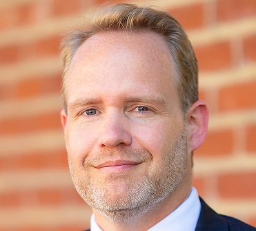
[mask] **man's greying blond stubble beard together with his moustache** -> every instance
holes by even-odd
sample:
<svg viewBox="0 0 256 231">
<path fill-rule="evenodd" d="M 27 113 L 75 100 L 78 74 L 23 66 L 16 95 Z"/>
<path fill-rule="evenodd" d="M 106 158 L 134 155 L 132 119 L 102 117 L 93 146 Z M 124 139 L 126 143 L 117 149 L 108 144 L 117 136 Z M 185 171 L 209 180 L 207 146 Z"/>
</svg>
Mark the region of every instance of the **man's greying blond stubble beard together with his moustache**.
<svg viewBox="0 0 256 231">
<path fill-rule="evenodd" d="M 168 197 L 181 183 L 188 169 L 186 126 L 175 144 L 161 154 L 161 166 L 149 168 L 144 175 L 139 175 L 141 177 L 113 173 L 102 178 L 86 172 L 92 165 L 103 163 L 113 156 L 152 162 L 153 157 L 146 149 L 127 150 L 124 147 L 115 151 L 105 150 L 97 153 L 96 157 L 86 157 L 82 171 L 69 157 L 70 173 L 77 192 L 86 203 L 110 221 L 126 223 Z"/>
</svg>

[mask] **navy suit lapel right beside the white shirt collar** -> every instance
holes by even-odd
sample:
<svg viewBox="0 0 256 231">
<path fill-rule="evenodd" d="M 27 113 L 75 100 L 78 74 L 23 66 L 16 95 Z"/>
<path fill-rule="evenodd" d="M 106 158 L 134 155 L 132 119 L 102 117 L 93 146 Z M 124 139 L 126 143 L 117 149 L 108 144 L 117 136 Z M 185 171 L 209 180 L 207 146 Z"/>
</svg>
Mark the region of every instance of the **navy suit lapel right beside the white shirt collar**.
<svg viewBox="0 0 256 231">
<path fill-rule="evenodd" d="M 226 220 L 212 210 L 201 197 L 201 212 L 195 231 L 228 231 Z"/>
</svg>

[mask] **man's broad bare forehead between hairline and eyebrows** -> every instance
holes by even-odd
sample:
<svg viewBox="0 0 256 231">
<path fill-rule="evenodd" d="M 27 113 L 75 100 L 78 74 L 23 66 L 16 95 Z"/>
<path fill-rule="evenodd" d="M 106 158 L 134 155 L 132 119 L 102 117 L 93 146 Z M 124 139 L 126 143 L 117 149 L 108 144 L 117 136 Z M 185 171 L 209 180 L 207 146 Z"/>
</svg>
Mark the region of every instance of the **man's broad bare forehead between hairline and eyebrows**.
<svg viewBox="0 0 256 231">
<path fill-rule="evenodd" d="M 137 86 L 152 91 L 172 88 L 173 61 L 166 41 L 154 32 L 100 32 L 79 47 L 67 75 L 67 98 L 77 94 L 115 89 L 115 93 Z M 168 86 L 168 87 L 166 87 Z M 72 94 L 71 94 L 72 92 Z"/>
</svg>

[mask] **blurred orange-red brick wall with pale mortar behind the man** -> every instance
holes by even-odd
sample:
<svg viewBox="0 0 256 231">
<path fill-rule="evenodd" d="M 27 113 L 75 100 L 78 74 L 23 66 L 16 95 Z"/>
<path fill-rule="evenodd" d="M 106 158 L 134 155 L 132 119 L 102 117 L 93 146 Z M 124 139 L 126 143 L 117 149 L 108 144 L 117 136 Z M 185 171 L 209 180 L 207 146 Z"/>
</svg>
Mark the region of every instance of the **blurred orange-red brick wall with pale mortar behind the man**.
<svg viewBox="0 0 256 231">
<path fill-rule="evenodd" d="M 72 186 L 61 109 L 59 42 L 102 0 L 0 1 L 0 230 L 81 230 L 90 208 Z M 113 1 L 118 2 L 118 1 Z M 208 137 L 195 186 L 216 210 L 256 225 L 256 1 L 158 0 L 199 61 Z"/>
</svg>

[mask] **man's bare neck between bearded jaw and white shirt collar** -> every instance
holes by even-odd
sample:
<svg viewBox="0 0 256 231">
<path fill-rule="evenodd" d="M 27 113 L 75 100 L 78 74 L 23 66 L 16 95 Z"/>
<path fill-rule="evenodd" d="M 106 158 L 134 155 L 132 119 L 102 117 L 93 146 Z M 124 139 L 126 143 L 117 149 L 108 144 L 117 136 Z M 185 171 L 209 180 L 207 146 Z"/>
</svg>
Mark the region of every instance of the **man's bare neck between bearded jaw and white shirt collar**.
<svg viewBox="0 0 256 231">
<path fill-rule="evenodd" d="M 188 198 L 191 187 L 191 181 L 188 182 L 186 180 L 184 182 L 181 182 L 179 187 L 172 193 L 172 195 L 169 195 L 168 197 L 157 203 L 155 206 L 152 206 L 150 210 L 146 210 L 146 212 L 141 212 L 140 215 L 129 220 L 128 222 L 119 223 L 115 221 L 110 221 L 97 210 L 92 209 L 92 211 L 95 214 L 95 220 L 104 231 L 148 230 L 153 225 L 157 224 L 159 221 L 167 217 L 176 208 L 178 208 L 181 203 L 183 203 Z"/>
</svg>

